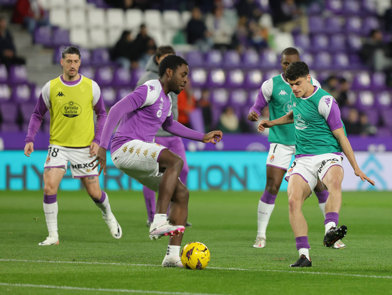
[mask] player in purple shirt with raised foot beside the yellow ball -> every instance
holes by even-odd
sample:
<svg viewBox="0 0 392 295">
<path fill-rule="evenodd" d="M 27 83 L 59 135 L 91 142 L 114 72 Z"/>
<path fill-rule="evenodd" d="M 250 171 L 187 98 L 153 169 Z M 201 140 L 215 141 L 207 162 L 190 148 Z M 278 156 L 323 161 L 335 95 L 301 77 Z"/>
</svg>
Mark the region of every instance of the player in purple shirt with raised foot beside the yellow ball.
<svg viewBox="0 0 392 295">
<path fill-rule="evenodd" d="M 179 94 L 187 83 L 189 72 L 185 59 L 174 54 L 166 56 L 159 65 L 159 79 L 150 80 L 116 103 L 103 126 L 100 146 L 93 169 L 106 174 L 106 149 L 111 134 L 120 123 L 111 141 L 111 158 L 125 174 L 158 192 L 156 214 L 150 226 L 151 239 L 169 237 L 162 266 L 183 267 L 180 246 L 187 223 L 189 191 L 178 178 L 183 160 L 166 147 L 154 143 L 158 129 L 201 142 L 216 144 L 221 131 L 203 134 L 173 120 L 169 92 Z M 167 209 L 170 204 L 169 220 Z"/>
</svg>

